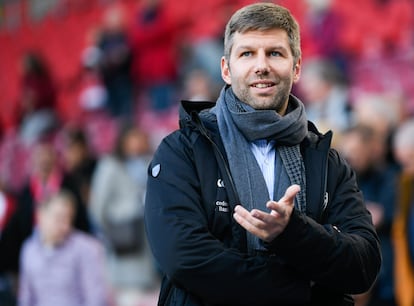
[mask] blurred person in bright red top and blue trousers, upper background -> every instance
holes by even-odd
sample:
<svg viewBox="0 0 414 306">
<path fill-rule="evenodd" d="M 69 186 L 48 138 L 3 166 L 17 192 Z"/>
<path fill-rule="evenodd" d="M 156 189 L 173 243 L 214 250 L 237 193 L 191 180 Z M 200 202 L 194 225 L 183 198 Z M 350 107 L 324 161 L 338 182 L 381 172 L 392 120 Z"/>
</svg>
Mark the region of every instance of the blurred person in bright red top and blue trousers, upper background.
<svg viewBox="0 0 414 306">
<path fill-rule="evenodd" d="M 165 113 L 176 98 L 178 28 L 166 1 L 143 0 L 130 26 L 132 76 L 149 110 Z"/>
</svg>

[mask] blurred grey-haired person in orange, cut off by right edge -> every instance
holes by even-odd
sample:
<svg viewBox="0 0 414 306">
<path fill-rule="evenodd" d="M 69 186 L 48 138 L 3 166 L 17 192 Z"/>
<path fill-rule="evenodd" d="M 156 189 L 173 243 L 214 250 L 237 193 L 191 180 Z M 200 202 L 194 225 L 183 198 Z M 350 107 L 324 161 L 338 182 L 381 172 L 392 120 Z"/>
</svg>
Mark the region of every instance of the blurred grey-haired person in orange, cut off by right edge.
<svg viewBox="0 0 414 306">
<path fill-rule="evenodd" d="M 393 227 L 395 293 L 399 306 L 414 305 L 414 119 L 402 123 L 393 138 L 401 166 L 397 214 Z"/>
</svg>

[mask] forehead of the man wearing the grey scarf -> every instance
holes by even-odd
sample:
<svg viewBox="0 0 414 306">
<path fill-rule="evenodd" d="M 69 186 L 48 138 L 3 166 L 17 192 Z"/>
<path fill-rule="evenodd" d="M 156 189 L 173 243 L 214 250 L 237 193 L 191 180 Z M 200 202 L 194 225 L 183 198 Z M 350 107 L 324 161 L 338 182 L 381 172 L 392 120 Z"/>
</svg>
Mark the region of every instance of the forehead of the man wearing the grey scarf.
<svg viewBox="0 0 414 306">
<path fill-rule="evenodd" d="M 290 51 L 289 37 L 285 30 L 278 28 L 236 32 L 232 49 L 239 48 L 285 48 Z"/>
</svg>

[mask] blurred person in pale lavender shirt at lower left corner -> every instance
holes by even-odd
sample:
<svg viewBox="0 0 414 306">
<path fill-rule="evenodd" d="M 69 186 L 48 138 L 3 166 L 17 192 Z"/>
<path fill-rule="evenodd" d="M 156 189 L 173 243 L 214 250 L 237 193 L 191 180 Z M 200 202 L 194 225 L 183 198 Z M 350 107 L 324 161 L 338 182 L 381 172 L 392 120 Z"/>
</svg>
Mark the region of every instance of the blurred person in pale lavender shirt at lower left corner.
<svg viewBox="0 0 414 306">
<path fill-rule="evenodd" d="M 73 228 L 73 196 L 59 191 L 36 211 L 36 230 L 22 248 L 18 306 L 109 306 L 104 248 Z"/>
</svg>

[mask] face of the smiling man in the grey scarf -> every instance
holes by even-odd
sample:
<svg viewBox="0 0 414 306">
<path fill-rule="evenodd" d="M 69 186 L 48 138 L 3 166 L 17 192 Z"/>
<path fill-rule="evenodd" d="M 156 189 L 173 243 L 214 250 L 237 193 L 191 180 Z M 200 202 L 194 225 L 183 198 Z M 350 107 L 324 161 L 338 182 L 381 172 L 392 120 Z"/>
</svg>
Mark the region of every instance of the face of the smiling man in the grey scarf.
<svg viewBox="0 0 414 306">
<path fill-rule="evenodd" d="M 242 102 L 284 115 L 300 66 L 300 59 L 294 64 L 284 30 L 249 31 L 235 33 L 229 61 L 221 60 L 221 74 Z"/>
</svg>

